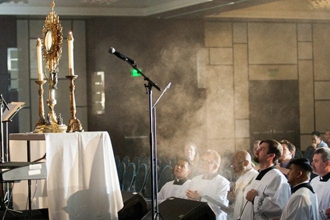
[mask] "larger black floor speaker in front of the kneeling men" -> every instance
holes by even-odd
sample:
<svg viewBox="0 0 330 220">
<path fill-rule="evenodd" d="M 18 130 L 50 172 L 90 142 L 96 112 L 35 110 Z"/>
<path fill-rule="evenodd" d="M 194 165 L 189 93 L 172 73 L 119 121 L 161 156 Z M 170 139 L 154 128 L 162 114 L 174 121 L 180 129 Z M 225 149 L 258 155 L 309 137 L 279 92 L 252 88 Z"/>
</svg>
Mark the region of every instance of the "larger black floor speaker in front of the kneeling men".
<svg viewBox="0 0 330 220">
<path fill-rule="evenodd" d="M 207 202 L 169 197 L 159 203 L 158 210 L 158 219 L 215 220 L 215 214 Z M 151 211 L 149 211 L 142 219 L 152 219 Z"/>
</svg>

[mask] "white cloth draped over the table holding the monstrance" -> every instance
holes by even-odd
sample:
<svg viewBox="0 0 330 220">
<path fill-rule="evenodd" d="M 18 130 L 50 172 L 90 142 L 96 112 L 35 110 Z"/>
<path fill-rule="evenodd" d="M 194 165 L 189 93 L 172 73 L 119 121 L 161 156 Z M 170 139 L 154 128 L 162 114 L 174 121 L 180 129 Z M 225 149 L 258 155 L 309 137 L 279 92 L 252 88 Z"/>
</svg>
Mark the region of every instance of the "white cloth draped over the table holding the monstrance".
<svg viewBox="0 0 330 220">
<path fill-rule="evenodd" d="M 32 135 L 32 138 L 24 138 L 24 135 Z M 9 139 L 33 140 L 33 135 L 42 134 L 10 134 Z M 49 219 L 117 219 L 123 202 L 108 133 L 44 133 L 44 139 Z M 33 144 L 30 144 L 31 160 L 35 159 L 35 154 L 42 153 L 42 149 L 34 149 Z M 15 142 L 9 142 L 11 161 L 21 161 L 26 147 L 21 142 L 20 146 L 11 145 Z M 20 159 L 15 160 L 15 156 Z M 45 187 L 42 188 L 41 194 L 44 194 Z M 34 185 L 31 192 L 33 195 Z M 38 193 L 35 196 L 42 197 Z"/>
</svg>

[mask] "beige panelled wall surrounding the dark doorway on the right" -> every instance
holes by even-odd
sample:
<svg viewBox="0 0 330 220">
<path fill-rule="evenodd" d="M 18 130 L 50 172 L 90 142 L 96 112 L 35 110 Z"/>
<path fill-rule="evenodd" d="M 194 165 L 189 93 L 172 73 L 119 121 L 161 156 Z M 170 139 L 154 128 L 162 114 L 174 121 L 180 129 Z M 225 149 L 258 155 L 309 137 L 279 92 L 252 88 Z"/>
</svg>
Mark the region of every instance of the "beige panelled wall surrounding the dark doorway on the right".
<svg viewBox="0 0 330 220">
<path fill-rule="evenodd" d="M 249 80 L 298 80 L 302 150 L 311 131 L 330 127 L 329 23 L 205 21 L 204 28 L 200 51 L 209 56 L 197 58 L 197 66 L 207 75 L 202 84 L 211 148 L 248 148 Z M 221 102 L 221 111 L 214 102 Z"/>
</svg>

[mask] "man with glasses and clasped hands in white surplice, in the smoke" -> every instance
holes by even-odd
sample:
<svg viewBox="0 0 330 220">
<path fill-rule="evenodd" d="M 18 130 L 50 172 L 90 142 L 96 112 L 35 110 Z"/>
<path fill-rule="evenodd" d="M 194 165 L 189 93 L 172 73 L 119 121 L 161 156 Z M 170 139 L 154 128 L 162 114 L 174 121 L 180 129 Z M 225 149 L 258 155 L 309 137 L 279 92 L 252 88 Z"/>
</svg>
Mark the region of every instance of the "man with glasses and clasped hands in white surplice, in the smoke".
<svg viewBox="0 0 330 220">
<path fill-rule="evenodd" d="M 215 150 L 206 150 L 200 159 L 200 171 L 203 174 L 191 179 L 186 196 L 191 200 L 207 201 L 216 215 L 216 220 L 225 220 L 227 214 L 213 203 L 215 201 L 224 206 L 228 205 L 226 195 L 229 190 L 229 181 L 217 173 L 220 159 L 220 155 Z"/>
</svg>

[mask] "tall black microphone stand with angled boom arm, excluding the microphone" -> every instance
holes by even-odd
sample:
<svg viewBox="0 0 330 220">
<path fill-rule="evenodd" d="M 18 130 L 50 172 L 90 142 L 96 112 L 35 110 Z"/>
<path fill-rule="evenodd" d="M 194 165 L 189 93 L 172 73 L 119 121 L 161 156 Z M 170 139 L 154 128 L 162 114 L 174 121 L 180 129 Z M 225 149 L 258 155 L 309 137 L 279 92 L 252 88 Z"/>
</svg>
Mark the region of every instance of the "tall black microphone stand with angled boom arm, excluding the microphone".
<svg viewBox="0 0 330 220">
<path fill-rule="evenodd" d="M 155 144 L 155 131 L 156 131 L 156 121 L 155 121 L 155 108 L 152 109 L 152 86 L 158 91 L 161 88 L 158 87 L 156 83 L 151 81 L 147 76 L 145 76 L 138 68 L 136 64 L 130 63 L 127 58 L 124 59 L 129 65 L 131 65 L 138 73 L 143 76 L 143 79 L 148 83 L 144 83 L 146 88 L 146 93 L 149 95 L 149 144 L 150 144 L 150 172 L 151 172 L 151 214 L 152 219 L 157 219 L 158 212 L 158 184 L 157 184 L 157 149 Z M 162 218 L 162 217 L 161 217 Z"/>
</svg>

